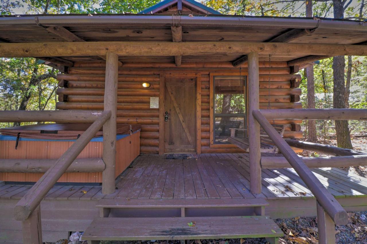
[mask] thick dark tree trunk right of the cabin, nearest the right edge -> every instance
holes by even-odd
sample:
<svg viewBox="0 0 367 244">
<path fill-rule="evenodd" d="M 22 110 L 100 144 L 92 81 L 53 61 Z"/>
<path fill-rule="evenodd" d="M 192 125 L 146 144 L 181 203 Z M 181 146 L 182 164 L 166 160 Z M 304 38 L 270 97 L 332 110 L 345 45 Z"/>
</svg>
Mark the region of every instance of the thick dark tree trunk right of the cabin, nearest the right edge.
<svg viewBox="0 0 367 244">
<path fill-rule="evenodd" d="M 333 0 L 334 18 L 344 18 L 344 6 L 342 0 Z M 333 58 L 334 77 L 334 108 L 345 108 L 345 81 L 344 81 L 345 58 L 336 56 Z M 338 147 L 353 149 L 350 140 L 348 121 L 336 120 L 335 130 L 337 132 Z"/>
</svg>

